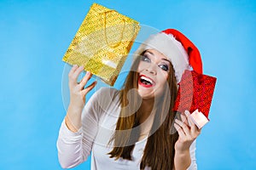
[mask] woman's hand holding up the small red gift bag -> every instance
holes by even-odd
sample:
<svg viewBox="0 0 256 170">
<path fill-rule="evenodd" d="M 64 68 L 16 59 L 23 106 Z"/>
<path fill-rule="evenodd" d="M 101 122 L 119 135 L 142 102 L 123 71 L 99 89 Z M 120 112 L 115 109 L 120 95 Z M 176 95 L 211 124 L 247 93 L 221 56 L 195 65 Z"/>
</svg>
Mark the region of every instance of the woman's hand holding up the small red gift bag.
<svg viewBox="0 0 256 170">
<path fill-rule="evenodd" d="M 196 127 L 195 123 L 191 121 L 189 114 L 189 111 L 181 114 L 182 121 L 175 119 L 174 127 L 178 133 L 175 150 L 179 152 L 188 151 L 190 145 L 201 133 L 201 129 Z"/>
</svg>

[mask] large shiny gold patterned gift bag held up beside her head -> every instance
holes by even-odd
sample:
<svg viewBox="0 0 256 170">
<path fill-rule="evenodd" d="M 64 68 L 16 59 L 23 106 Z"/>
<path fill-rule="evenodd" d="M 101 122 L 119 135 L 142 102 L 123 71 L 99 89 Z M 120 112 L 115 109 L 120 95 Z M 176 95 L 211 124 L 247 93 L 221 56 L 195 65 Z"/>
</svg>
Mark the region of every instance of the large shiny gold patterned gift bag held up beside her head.
<svg viewBox="0 0 256 170">
<path fill-rule="evenodd" d="M 93 3 L 62 60 L 113 86 L 139 30 L 136 20 Z"/>
</svg>

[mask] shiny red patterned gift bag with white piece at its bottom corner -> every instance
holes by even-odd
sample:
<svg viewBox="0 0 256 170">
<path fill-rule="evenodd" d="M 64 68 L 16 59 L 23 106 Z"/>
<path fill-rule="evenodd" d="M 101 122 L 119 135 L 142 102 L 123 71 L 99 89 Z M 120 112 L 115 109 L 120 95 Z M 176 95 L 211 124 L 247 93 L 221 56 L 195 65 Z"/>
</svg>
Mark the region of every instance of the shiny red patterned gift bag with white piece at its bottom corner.
<svg viewBox="0 0 256 170">
<path fill-rule="evenodd" d="M 209 122 L 208 115 L 217 78 L 184 71 L 178 83 L 177 99 L 173 111 L 190 111 L 192 121 L 199 128 Z"/>
</svg>

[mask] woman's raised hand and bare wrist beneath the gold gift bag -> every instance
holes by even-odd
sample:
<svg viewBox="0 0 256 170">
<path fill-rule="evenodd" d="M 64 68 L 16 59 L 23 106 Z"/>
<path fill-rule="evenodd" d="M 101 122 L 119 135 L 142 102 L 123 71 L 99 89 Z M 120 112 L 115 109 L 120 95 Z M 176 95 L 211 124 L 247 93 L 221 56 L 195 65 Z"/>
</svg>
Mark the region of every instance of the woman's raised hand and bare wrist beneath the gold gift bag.
<svg viewBox="0 0 256 170">
<path fill-rule="evenodd" d="M 78 81 L 79 74 L 84 70 L 83 66 L 73 65 L 68 74 L 68 86 L 70 91 L 70 103 L 67 109 L 67 116 L 65 122 L 67 127 L 77 132 L 81 127 L 81 114 L 85 105 L 85 96 L 92 88 L 96 86 L 96 82 L 92 82 L 90 86 L 84 88 L 85 84 L 90 80 L 92 74 L 87 72 L 82 78 L 81 82 Z"/>
</svg>

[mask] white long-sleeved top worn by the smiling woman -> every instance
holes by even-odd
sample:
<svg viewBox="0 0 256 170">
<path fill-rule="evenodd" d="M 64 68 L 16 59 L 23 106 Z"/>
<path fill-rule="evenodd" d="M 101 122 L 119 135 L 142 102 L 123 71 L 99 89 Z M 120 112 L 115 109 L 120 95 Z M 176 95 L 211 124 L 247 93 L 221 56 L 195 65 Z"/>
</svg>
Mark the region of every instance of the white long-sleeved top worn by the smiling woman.
<svg viewBox="0 0 256 170">
<path fill-rule="evenodd" d="M 136 142 L 131 153 L 132 161 L 122 158 L 115 161 L 108 155 L 113 149 L 113 143 L 108 144 L 108 141 L 114 133 L 120 112 L 118 94 L 119 91 L 114 88 L 101 88 L 96 91 L 84 106 L 82 127 L 76 133 L 70 131 L 63 120 L 56 144 L 61 167 L 78 166 L 86 161 L 91 153 L 91 170 L 140 169 L 147 138 Z M 190 146 L 190 157 L 191 165 L 188 169 L 195 170 L 195 142 Z"/>
</svg>

